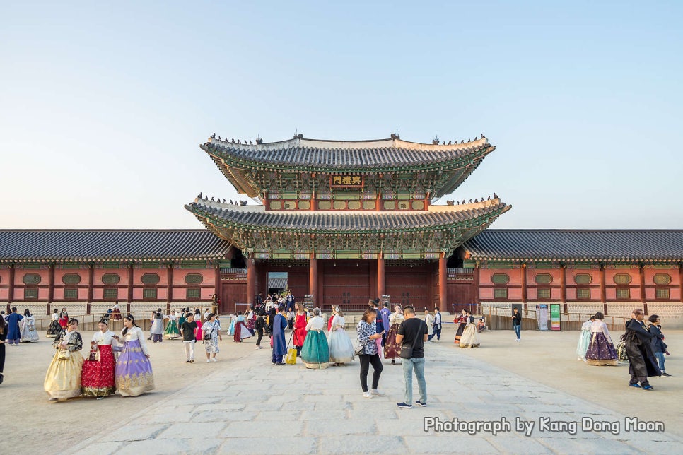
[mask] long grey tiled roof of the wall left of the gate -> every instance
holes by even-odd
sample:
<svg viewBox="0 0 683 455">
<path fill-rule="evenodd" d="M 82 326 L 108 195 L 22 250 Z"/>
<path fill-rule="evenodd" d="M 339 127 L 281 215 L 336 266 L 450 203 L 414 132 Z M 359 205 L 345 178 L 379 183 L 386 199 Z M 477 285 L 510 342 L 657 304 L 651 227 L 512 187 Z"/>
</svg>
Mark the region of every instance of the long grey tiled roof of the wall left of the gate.
<svg viewBox="0 0 683 455">
<path fill-rule="evenodd" d="M 230 243 L 207 230 L 0 230 L 0 262 L 218 259 Z"/>
</svg>

